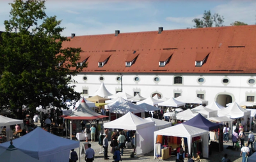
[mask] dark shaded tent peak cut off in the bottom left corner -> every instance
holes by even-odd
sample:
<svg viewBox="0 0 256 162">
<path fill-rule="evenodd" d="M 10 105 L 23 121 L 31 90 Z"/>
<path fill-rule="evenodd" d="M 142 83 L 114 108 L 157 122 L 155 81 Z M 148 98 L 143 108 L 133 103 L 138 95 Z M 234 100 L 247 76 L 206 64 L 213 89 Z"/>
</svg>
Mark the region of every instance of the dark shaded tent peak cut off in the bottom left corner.
<svg viewBox="0 0 256 162">
<path fill-rule="evenodd" d="M 8 147 L 8 149 L 4 149 L 4 152 L 0 152 L 0 159 L 1 161 L 6 161 L 6 162 L 17 162 L 17 161 L 42 162 L 38 159 L 28 156 L 24 152 L 14 147 L 12 144 Z"/>
</svg>

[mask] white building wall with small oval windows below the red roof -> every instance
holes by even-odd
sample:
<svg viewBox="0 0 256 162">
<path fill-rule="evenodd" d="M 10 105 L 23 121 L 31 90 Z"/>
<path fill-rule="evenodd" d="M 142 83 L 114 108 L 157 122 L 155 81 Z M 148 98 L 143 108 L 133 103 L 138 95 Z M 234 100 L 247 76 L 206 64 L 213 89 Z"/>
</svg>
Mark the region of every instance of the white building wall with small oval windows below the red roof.
<svg viewBox="0 0 256 162">
<path fill-rule="evenodd" d="M 86 77 L 87 80 L 83 78 Z M 73 79 L 77 81 L 76 91 L 83 92 L 83 89 L 88 90 L 88 95 L 83 94 L 85 98 L 93 96 L 99 89 L 101 84 L 100 77 L 104 77 L 104 85 L 112 94 L 116 91 L 121 91 L 121 82 L 116 80 L 120 74 L 82 74 L 80 73 Z M 134 78 L 140 78 L 139 81 L 134 81 Z M 158 77 L 159 81 L 154 81 Z M 175 77 L 182 77 L 182 84 L 174 84 Z M 199 78 L 203 78 L 204 82 L 198 82 Z M 223 79 L 228 79 L 228 83 L 223 83 Z M 255 80 L 254 84 L 249 84 L 248 80 Z M 140 92 L 140 95 L 148 98 L 155 92 L 161 94 L 162 97 L 172 98 L 175 93 L 180 93 L 181 96 L 197 96 L 204 94 L 204 99 L 211 103 L 212 101 L 225 101 L 225 95 L 232 97 L 232 101 L 240 103 L 246 101 L 246 96 L 254 96 L 256 98 L 256 75 L 246 74 L 122 74 L 123 92 L 127 92 L 134 96 L 134 92 Z"/>
</svg>

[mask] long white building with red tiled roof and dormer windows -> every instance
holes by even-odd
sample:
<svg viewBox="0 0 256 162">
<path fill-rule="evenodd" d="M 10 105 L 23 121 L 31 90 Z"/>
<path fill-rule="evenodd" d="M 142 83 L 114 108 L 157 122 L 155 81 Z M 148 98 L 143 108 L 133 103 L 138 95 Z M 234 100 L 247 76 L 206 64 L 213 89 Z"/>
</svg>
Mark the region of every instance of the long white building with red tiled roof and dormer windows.
<svg viewBox="0 0 256 162">
<path fill-rule="evenodd" d="M 81 47 L 73 79 L 93 96 L 101 82 L 109 92 L 147 98 L 198 96 L 225 106 L 255 101 L 256 26 L 207 27 L 76 36 L 63 47 Z"/>
</svg>

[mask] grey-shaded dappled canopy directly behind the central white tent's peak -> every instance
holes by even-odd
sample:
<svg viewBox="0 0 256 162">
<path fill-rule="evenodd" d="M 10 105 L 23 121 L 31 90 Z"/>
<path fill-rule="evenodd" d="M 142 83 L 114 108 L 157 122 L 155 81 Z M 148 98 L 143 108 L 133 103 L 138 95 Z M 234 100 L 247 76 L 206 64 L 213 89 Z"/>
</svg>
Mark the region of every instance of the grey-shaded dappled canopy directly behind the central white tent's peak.
<svg viewBox="0 0 256 162">
<path fill-rule="evenodd" d="M 140 112 L 145 112 L 145 110 L 138 107 L 138 105 L 131 103 L 130 101 L 125 101 L 124 103 L 120 103 L 115 107 L 113 105 L 112 107 L 109 107 L 109 112 L 114 114 L 126 114 L 127 112 L 132 112 L 136 114 Z"/>
</svg>

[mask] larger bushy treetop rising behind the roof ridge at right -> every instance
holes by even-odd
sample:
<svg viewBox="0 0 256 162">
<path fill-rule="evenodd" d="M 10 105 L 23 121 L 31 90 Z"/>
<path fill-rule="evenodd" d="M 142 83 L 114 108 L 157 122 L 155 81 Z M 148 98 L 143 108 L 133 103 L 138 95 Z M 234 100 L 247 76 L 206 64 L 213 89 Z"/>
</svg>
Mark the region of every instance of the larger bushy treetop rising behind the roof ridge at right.
<svg viewBox="0 0 256 162">
<path fill-rule="evenodd" d="M 192 22 L 195 22 L 196 28 L 200 27 L 220 27 L 223 26 L 224 17 L 219 15 L 218 13 L 214 13 L 214 15 L 211 14 L 211 11 L 204 11 L 204 16 L 202 19 L 200 18 L 194 18 Z"/>
</svg>

